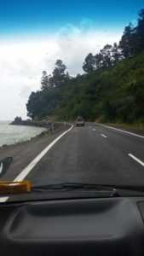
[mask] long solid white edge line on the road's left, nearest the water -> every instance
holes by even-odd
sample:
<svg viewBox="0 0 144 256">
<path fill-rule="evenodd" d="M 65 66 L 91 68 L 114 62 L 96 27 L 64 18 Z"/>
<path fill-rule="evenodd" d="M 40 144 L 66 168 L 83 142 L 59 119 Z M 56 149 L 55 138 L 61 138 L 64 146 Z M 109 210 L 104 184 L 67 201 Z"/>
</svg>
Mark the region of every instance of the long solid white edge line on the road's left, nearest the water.
<svg viewBox="0 0 144 256">
<path fill-rule="evenodd" d="M 62 134 L 60 134 L 59 137 L 56 137 L 52 143 L 50 143 L 46 148 L 44 148 L 43 151 L 40 154 L 38 154 L 37 157 L 34 160 L 32 160 L 32 162 L 28 166 L 26 166 L 26 168 L 22 172 L 20 172 L 20 174 L 17 177 L 14 178 L 14 182 L 22 181 L 28 175 L 28 173 L 32 171 L 33 167 L 37 165 L 38 161 L 43 158 L 44 154 L 46 154 L 49 151 L 49 149 L 52 148 L 55 145 L 55 143 L 57 143 L 60 140 L 60 138 L 63 137 L 68 131 L 71 131 L 72 128 L 73 125 L 70 129 L 64 131 Z M 0 202 L 7 201 L 8 199 L 9 196 L 0 197 Z"/>
</svg>

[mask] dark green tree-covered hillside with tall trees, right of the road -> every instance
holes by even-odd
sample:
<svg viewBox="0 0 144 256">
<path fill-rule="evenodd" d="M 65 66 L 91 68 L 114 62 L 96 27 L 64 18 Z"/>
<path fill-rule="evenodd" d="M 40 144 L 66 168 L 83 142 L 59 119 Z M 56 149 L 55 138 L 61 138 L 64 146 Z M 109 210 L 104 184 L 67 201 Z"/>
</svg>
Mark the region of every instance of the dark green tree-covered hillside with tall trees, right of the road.
<svg viewBox="0 0 144 256">
<path fill-rule="evenodd" d="M 43 71 L 41 89 L 26 104 L 32 119 L 84 119 L 132 123 L 144 118 L 144 9 L 137 26 L 124 29 L 119 44 L 105 45 L 86 56 L 84 74 L 69 76 L 66 65 L 55 62 L 52 74 Z"/>
</svg>

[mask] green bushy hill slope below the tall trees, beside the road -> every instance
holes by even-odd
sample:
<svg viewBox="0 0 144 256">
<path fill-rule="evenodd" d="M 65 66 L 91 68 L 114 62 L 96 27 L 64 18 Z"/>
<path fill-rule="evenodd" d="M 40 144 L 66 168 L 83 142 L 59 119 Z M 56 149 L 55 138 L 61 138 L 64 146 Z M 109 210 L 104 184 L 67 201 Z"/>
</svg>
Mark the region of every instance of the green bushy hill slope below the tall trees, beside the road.
<svg viewBox="0 0 144 256">
<path fill-rule="evenodd" d="M 134 122 L 144 117 L 144 53 L 104 72 L 72 79 L 53 114 L 60 119 Z"/>
</svg>

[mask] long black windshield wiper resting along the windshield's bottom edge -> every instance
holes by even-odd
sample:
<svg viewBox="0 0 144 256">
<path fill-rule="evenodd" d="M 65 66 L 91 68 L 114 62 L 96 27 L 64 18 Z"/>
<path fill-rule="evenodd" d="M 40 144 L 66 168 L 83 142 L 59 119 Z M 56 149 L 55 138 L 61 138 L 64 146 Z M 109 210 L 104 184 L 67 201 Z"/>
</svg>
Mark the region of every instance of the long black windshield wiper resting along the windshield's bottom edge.
<svg viewBox="0 0 144 256">
<path fill-rule="evenodd" d="M 110 186 L 95 185 L 89 183 L 58 183 L 58 184 L 47 184 L 43 186 L 32 187 L 33 192 L 47 192 L 47 191 L 97 191 L 101 193 L 108 193 L 108 195 L 117 195 L 117 189 Z"/>
</svg>

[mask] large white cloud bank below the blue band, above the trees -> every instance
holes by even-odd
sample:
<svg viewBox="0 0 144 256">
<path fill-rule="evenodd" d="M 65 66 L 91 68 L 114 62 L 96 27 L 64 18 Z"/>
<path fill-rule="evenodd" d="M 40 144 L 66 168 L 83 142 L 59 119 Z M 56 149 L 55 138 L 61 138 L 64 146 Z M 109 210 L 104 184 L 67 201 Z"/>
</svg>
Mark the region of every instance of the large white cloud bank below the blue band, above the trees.
<svg viewBox="0 0 144 256">
<path fill-rule="evenodd" d="M 42 41 L 0 44 L 0 119 L 14 119 L 15 115 L 26 118 L 28 96 L 40 88 L 42 71 L 51 73 L 56 59 L 64 61 L 72 76 L 83 73 L 85 56 L 118 42 L 121 35 L 98 31 L 84 18 L 79 26 L 67 24 Z"/>
</svg>

